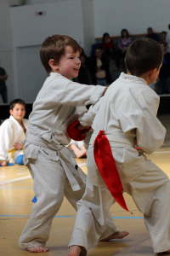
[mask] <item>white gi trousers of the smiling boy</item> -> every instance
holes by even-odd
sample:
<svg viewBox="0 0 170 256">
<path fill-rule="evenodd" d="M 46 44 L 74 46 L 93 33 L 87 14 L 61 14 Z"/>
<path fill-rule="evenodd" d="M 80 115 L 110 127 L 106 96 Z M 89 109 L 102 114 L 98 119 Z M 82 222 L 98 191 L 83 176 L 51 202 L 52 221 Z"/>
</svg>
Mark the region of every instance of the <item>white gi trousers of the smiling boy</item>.
<svg viewBox="0 0 170 256">
<path fill-rule="evenodd" d="M 30 159 L 27 166 L 34 180 L 33 189 L 37 196 L 37 203 L 31 209 L 31 215 L 20 236 L 19 245 L 20 247 L 45 246 L 52 220 L 59 211 L 64 195 L 71 206 L 77 210 L 77 201 L 82 198 L 85 191 L 82 177 L 86 178 L 86 175 L 80 170 L 81 177 L 76 168 L 75 172 L 71 169 L 72 175 L 81 187 L 80 190 L 73 191 L 61 162 L 51 160 L 47 154 L 47 148 L 39 148 L 37 159 Z M 99 211 L 98 206 L 96 210 Z M 116 231 L 111 213 L 108 212 L 105 232 L 99 239 L 111 236 Z"/>
</svg>

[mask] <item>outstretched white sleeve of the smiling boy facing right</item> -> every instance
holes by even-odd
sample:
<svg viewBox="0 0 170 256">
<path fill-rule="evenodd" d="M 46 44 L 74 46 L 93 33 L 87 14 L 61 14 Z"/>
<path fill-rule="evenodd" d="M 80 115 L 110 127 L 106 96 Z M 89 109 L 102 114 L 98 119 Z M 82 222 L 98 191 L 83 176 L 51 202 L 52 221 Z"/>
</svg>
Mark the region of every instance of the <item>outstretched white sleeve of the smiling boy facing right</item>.
<svg viewBox="0 0 170 256">
<path fill-rule="evenodd" d="M 95 104 L 106 88 L 100 85 L 78 84 L 70 81 L 57 93 L 56 102 L 61 105 L 87 106 Z"/>
</svg>

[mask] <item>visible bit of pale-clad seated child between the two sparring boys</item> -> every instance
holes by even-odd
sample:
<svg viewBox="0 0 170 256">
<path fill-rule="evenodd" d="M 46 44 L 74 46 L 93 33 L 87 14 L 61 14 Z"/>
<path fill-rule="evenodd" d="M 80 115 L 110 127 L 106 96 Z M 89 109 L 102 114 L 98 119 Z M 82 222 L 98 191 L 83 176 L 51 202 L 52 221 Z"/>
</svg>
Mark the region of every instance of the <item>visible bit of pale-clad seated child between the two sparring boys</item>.
<svg viewBox="0 0 170 256">
<path fill-rule="evenodd" d="M 71 140 L 71 143 L 68 145 L 68 147 L 74 151 L 74 153 L 77 155 L 77 158 L 86 157 L 87 149 L 84 141 L 77 142 Z"/>
</svg>

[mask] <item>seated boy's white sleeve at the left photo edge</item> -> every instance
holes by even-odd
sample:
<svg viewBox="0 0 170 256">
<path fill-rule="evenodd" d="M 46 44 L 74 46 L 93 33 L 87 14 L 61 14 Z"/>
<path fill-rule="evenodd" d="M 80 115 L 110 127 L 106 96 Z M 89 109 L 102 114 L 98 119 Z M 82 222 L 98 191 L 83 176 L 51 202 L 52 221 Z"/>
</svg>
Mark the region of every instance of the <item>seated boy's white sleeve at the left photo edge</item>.
<svg viewBox="0 0 170 256">
<path fill-rule="evenodd" d="M 0 160 L 7 160 L 8 149 L 13 141 L 13 130 L 8 120 L 0 126 Z"/>
</svg>

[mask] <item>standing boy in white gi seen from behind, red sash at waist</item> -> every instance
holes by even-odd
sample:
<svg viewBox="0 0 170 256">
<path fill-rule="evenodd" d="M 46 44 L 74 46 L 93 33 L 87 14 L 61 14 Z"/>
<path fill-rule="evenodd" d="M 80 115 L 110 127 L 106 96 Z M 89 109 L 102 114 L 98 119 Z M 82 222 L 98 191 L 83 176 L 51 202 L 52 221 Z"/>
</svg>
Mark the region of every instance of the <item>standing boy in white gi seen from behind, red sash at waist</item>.
<svg viewBox="0 0 170 256">
<path fill-rule="evenodd" d="M 159 74 L 162 57 L 161 45 L 156 41 L 150 38 L 135 40 L 127 49 L 127 74 L 121 73 L 119 79 L 106 90 L 105 96 L 89 109 L 84 118 L 79 119 L 81 125 L 91 125 L 95 116 L 92 125 L 94 134 L 87 152 L 86 191 L 82 200 L 77 202 L 77 219 L 69 244 L 69 256 L 86 255 L 88 248 L 98 241 L 105 230 L 105 219 L 113 197 L 100 175 L 99 162 L 96 165 L 95 161 L 96 142 L 100 143 L 105 137 L 110 143 L 123 191 L 133 197 L 139 211 L 144 213 L 144 223 L 150 232 L 154 252 L 170 253 L 169 178 L 144 154 L 151 154 L 160 148 L 166 134 L 156 118 L 159 96 L 148 86 Z M 141 151 L 134 147 L 136 140 Z M 102 152 L 105 148 L 98 150 L 97 154 Z M 105 172 L 108 171 L 109 168 L 105 169 Z M 100 206 L 100 212 L 99 208 L 96 211 L 96 205 Z"/>
</svg>

